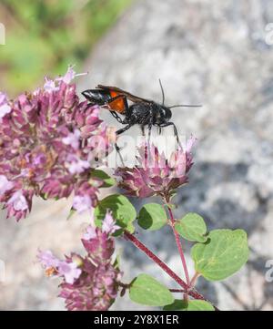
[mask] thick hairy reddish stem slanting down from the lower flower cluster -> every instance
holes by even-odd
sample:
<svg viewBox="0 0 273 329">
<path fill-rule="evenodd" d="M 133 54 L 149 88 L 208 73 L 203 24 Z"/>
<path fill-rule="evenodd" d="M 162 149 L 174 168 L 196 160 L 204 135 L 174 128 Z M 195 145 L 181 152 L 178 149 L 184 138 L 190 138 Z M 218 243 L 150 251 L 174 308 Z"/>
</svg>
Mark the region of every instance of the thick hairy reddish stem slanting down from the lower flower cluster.
<svg viewBox="0 0 273 329">
<path fill-rule="evenodd" d="M 196 289 L 190 289 L 188 290 L 188 285 L 187 283 L 185 283 L 181 278 L 179 278 L 179 276 L 173 272 L 165 262 L 162 262 L 157 255 L 154 252 L 151 252 L 146 245 L 144 245 L 142 242 L 140 242 L 135 235 L 129 233 L 128 231 L 125 231 L 124 235 L 126 236 L 126 239 L 129 240 L 130 242 L 134 243 L 134 245 L 136 246 L 137 249 L 141 250 L 142 252 L 146 253 L 147 256 L 154 262 L 157 263 L 158 266 L 160 266 L 162 268 L 162 270 L 164 270 L 165 272 L 167 272 L 167 274 L 174 279 L 183 289 L 185 289 L 187 291 L 187 293 L 192 296 L 195 299 L 200 299 L 203 301 L 207 301 L 207 299 L 201 294 L 198 293 Z M 210 302 L 209 302 L 210 303 Z M 216 306 L 214 306 L 215 309 Z"/>
</svg>

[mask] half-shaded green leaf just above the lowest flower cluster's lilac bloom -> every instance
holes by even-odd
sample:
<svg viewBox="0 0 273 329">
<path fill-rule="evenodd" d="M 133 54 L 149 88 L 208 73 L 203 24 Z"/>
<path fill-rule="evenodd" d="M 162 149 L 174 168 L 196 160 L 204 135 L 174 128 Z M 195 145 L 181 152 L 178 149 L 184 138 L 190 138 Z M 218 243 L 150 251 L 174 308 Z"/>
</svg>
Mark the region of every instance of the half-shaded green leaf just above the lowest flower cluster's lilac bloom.
<svg viewBox="0 0 273 329">
<path fill-rule="evenodd" d="M 98 202 L 94 212 L 96 226 L 100 227 L 102 225 L 107 210 L 112 211 L 116 224 L 121 228 L 130 232 L 135 230 L 132 222 L 136 220 L 136 210 L 124 195 L 109 195 Z M 116 232 L 114 235 L 116 235 Z"/>
</svg>

